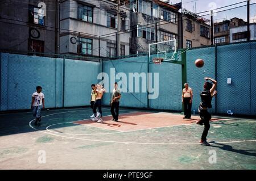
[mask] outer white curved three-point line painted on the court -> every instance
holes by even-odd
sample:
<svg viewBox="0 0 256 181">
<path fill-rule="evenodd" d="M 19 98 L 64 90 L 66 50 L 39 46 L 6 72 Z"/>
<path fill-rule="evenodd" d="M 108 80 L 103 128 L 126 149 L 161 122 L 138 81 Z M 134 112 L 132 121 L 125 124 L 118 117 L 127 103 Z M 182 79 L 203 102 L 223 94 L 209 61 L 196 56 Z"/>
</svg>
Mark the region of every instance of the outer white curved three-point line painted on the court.
<svg viewBox="0 0 256 181">
<path fill-rule="evenodd" d="M 77 111 L 68 111 L 68 112 L 77 112 Z M 59 112 L 59 113 L 67 113 L 67 112 Z M 53 113 L 51 115 L 56 115 L 59 113 Z M 46 116 L 51 116 L 51 115 L 46 115 Z M 46 117 L 43 116 L 43 117 Z M 71 137 L 71 136 L 63 136 L 59 134 L 53 134 L 49 132 L 44 132 L 40 131 L 39 129 L 36 129 L 32 127 L 31 123 L 36 119 L 33 119 L 30 121 L 29 125 L 32 129 L 35 129 L 36 131 L 46 133 L 46 134 L 51 134 L 53 136 L 59 136 L 59 137 L 65 137 L 65 138 L 72 138 L 76 140 L 85 140 L 85 141 L 97 141 L 97 142 L 112 142 L 112 143 L 120 143 L 120 144 L 139 144 L 139 145 L 201 145 L 201 144 L 196 144 L 196 143 L 188 143 L 188 144 L 181 144 L 181 143 L 147 143 L 147 142 L 124 142 L 124 141 L 108 141 L 108 140 L 93 140 L 93 139 L 86 139 L 86 138 L 77 138 L 77 137 Z M 236 142 L 255 142 L 256 140 L 241 140 L 241 141 L 226 141 L 226 142 L 215 142 L 216 144 L 228 144 L 228 143 L 236 143 Z"/>
</svg>

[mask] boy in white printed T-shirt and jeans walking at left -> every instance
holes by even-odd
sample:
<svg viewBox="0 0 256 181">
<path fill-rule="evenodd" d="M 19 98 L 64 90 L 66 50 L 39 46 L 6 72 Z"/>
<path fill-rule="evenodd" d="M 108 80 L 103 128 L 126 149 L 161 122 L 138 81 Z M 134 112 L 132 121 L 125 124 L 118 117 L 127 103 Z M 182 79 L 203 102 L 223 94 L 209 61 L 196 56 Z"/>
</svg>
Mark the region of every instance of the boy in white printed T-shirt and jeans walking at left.
<svg viewBox="0 0 256 181">
<path fill-rule="evenodd" d="M 43 106 L 44 109 L 44 94 L 42 92 L 42 87 L 37 86 L 36 92 L 32 94 L 32 102 L 31 102 L 31 109 L 33 111 L 33 116 L 36 116 L 35 125 L 41 121 L 40 111 Z"/>
</svg>

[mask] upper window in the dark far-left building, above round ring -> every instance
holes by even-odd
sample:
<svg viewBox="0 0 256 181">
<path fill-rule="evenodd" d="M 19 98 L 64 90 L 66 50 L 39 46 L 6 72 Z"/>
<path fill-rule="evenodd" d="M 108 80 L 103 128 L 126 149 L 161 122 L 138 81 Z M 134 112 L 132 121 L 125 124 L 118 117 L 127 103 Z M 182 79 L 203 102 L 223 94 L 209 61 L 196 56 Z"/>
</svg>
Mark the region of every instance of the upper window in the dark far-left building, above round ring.
<svg viewBox="0 0 256 181">
<path fill-rule="evenodd" d="M 28 21 L 30 23 L 40 24 L 44 26 L 44 9 L 39 9 L 36 6 L 28 6 Z"/>
</svg>

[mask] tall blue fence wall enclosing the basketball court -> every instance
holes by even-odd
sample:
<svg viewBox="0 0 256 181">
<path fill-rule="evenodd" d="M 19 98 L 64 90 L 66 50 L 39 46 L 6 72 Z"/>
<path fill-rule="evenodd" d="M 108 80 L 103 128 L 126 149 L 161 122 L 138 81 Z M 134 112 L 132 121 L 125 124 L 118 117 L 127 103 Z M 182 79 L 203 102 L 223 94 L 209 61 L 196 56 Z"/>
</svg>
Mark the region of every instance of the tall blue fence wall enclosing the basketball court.
<svg viewBox="0 0 256 181">
<path fill-rule="evenodd" d="M 256 115 L 256 41 L 192 48 L 184 53 L 187 83 L 194 94 L 192 112 L 200 104 L 204 77 L 212 77 L 218 81 L 212 113 L 231 110 Z M 198 58 L 205 61 L 203 68 L 196 68 Z M 149 64 L 148 56 L 93 62 L 1 53 L 0 110 L 29 108 L 38 85 L 43 87 L 48 108 L 89 106 L 90 85 L 99 82 L 106 89 L 104 105 L 109 106 L 113 83 L 118 82 L 122 107 L 182 111 L 181 66 Z"/>
</svg>

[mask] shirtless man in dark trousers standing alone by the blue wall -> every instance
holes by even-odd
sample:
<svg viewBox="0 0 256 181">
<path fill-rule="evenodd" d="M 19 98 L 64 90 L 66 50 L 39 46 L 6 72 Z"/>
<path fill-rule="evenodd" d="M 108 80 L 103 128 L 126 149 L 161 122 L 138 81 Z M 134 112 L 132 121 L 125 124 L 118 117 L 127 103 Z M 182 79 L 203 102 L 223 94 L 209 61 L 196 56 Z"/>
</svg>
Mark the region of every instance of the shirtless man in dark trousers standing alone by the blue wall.
<svg viewBox="0 0 256 181">
<path fill-rule="evenodd" d="M 193 99 L 193 91 L 188 87 L 188 83 L 185 83 L 185 88 L 182 90 L 182 103 L 184 105 L 183 119 L 191 119 L 191 107 Z"/>
</svg>

